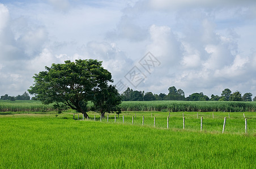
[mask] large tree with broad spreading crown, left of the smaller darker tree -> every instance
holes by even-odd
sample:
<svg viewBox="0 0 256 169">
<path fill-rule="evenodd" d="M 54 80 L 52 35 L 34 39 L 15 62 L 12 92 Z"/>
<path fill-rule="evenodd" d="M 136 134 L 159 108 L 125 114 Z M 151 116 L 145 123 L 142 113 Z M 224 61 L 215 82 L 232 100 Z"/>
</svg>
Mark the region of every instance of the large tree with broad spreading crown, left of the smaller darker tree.
<svg viewBox="0 0 256 169">
<path fill-rule="evenodd" d="M 34 94 L 44 104 L 63 103 L 85 117 L 88 117 L 87 101 L 93 100 L 96 91 L 113 82 L 102 62 L 93 59 L 67 60 L 65 64 L 52 64 L 45 69 L 33 76 L 29 94 Z"/>
</svg>

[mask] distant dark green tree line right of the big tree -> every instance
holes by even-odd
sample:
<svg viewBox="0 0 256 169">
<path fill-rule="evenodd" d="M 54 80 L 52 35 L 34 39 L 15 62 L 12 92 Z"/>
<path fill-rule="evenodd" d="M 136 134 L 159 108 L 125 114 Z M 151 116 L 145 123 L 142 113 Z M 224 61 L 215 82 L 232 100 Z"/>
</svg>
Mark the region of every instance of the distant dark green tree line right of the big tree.
<svg viewBox="0 0 256 169">
<path fill-rule="evenodd" d="M 159 95 L 153 94 L 152 92 L 144 91 L 134 91 L 131 88 L 127 88 L 121 94 L 122 101 L 151 101 L 151 100 L 184 100 L 184 101 L 256 101 L 256 96 L 254 99 L 251 93 L 245 93 L 243 96 L 240 91 L 233 92 L 228 88 L 225 88 L 221 96 L 211 95 L 211 98 L 204 95 L 203 92 L 194 93 L 185 97 L 185 92 L 180 88 L 177 90 L 176 87 L 172 86 L 168 88 L 169 93 Z"/>
</svg>

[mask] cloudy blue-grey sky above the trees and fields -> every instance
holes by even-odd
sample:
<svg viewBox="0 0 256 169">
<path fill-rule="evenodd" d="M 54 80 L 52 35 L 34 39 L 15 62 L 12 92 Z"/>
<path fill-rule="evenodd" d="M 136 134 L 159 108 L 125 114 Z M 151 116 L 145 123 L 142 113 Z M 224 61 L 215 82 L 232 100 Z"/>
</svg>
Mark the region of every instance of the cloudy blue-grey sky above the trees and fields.
<svg viewBox="0 0 256 169">
<path fill-rule="evenodd" d="M 0 96 L 76 59 L 103 61 L 120 92 L 255 96 L 255 30 L 254 0 L 0 0 Z"/>
</svg>

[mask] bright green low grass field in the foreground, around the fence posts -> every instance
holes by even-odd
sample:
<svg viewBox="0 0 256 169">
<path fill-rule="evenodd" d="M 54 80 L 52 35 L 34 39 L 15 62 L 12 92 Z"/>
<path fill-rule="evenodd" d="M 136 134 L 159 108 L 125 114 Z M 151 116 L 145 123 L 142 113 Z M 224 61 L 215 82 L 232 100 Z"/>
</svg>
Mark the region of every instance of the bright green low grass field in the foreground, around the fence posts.
<svg viewBox="0 0 256 169">
<path fill-rule="evenodd" d="M 206 124 L 203 132 L 195 112 L 184 112 L 185 130 L 181 112 L 170 114 L 168 130 L 166 112 L 124 112 L 116 123 L 114 114 L 109 122 L 99 122 L 99 114 L 93 112 L 89 121 L 73 120 L 72 115 L 0 115 L 0 168 L 256 167 L 255 113 L 245 112 L 248 135 L 242 113 L 230 114 L 224 134 L 223 117 L 228 114 L 223 112 L 215 112 L 214 119 L 212 113 L 199 113 Z"/>
</svg>

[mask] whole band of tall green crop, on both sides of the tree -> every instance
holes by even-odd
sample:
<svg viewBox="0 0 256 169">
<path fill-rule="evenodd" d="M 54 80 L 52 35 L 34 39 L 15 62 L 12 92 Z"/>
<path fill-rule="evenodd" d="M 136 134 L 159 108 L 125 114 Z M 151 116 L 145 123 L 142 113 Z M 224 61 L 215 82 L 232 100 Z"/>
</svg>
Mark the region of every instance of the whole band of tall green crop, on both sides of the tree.
<svg viewBox="0 0 256 169">
<path fill-rule="evenodd" d="M 88 103 L 91 109 L 93 103 Z M 123 101 L 122 111 L 159 111 L 159 112 L 255 112 L 256 101 Z M 0 112 L 48 112 L 53 111 L 52 104 L 44 105 L 33 100 L 0 100 Z"/>
</svg>

